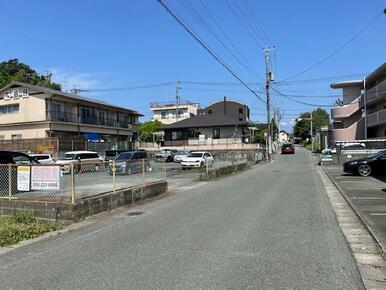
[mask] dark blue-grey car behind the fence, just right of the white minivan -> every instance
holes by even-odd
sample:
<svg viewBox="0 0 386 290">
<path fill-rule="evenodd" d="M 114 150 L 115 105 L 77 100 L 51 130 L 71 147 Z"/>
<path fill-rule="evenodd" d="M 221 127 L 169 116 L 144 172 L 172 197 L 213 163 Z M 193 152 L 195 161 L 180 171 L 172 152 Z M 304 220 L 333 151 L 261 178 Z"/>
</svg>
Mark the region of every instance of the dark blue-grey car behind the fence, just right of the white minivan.
<svg viewBox="0 0 386 290">
<path fill-rule="evenodd" d="M 145 172 L 151 170 L 146 151 L 128 151 L 119 154 L 115 158 L 114 165 L 109 164 L 109 173 L 111 175 L 113 174 L 113 166 L 115 166 L 116 175 L 140 173 L 143 170 L 143 166 Z"/>
</svg>

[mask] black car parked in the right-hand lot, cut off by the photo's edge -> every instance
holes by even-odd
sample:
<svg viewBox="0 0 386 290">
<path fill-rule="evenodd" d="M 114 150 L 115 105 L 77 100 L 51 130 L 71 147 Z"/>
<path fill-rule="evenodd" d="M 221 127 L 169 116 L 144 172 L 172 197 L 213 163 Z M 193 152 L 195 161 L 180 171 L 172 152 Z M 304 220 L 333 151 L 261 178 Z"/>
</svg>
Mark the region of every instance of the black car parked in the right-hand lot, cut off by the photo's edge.
<svg viewBox="0 0 386 290">
<path fill-rule="evenodd" d="M 386 175 L 386 150 L 365 158 L 347 161 L 343 164 L 343 171 L 361 176 Z"/>
</svg>

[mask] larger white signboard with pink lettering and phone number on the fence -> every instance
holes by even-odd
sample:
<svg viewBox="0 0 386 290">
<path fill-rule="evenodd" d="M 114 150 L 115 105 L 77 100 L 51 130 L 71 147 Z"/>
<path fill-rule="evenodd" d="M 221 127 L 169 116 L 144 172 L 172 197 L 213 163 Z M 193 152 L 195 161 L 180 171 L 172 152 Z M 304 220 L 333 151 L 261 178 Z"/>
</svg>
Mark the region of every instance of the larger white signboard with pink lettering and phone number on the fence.
<svg viewBox="0 0 386 290">
<path fill-rule="evenodd" d="M 59 166 L 32 166 L 32 190 L 59 190 Z"/>
</svg>

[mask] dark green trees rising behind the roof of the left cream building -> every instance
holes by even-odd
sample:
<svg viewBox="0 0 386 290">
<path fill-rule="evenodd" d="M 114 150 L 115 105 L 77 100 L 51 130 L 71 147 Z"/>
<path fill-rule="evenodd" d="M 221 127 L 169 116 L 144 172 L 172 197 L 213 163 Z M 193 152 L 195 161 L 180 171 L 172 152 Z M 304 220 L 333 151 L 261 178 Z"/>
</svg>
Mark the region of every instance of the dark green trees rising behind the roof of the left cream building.
<svg viewBox="0 0 386 290">
<path fill-rule="evenodd" d="M 17 58 L 0 63 L 0 88 L 11 81 L 38 85 L 54 90 L 61 90 L 61 85 L 51 80 L 52 74 L 41 75 Z"/>
</svg>

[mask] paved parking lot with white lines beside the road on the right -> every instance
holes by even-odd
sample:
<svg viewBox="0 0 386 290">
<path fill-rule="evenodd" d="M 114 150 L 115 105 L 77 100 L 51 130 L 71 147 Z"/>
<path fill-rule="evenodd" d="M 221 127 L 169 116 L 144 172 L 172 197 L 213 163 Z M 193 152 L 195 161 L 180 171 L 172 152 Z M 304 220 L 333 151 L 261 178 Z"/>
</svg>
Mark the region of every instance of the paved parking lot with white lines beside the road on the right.
<svg viewBox="0 0 386 290">
<path fill-rule="evenodd" d="M 325 166 L 376 239 L 386 245 L 386 176 L 360 177 Z"/>
</svg>

